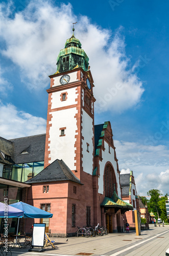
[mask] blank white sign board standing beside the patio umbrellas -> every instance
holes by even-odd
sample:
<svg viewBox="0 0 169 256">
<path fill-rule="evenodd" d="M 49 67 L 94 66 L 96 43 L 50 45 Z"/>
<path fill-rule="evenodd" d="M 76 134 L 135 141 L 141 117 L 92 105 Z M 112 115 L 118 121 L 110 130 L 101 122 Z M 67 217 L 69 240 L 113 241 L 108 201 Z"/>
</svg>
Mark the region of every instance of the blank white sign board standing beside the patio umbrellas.
<svg viewBox="0 0 169 256">
<path fill-rule="evenodd" d="M 34 223 L 32 246 L 44 246 L 45 223 Z"/>
</svg>

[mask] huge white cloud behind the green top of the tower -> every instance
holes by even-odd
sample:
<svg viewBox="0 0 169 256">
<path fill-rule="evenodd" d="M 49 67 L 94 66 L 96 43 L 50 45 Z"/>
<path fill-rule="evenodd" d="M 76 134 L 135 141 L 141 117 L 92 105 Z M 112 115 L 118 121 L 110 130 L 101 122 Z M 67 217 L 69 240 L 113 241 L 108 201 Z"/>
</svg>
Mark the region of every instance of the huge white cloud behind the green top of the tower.
<svg viewBox="0 0 169 256">
<path fill-rule="evenodd" d="M 71 5 L 56 7 L 47 1 L 30 1 L 13 19 L 4 10 L 0 18 L 0 36 L 6 42 L 2 54 L 19 67 L 22 82 L 30 89 L 46 87 L 48 75 L 56 72 L 59 50 L 71 36 L 71 22 L 77 20 Z M 142 82 L 130 68 L 121 30 L 111 38 L 110 30 L 91 24 L 86 16 L 81 16 L 76 26 L 76 36 L 89 56 L 98 112 L 129 109 L 143 93 Z"/>
</svg>

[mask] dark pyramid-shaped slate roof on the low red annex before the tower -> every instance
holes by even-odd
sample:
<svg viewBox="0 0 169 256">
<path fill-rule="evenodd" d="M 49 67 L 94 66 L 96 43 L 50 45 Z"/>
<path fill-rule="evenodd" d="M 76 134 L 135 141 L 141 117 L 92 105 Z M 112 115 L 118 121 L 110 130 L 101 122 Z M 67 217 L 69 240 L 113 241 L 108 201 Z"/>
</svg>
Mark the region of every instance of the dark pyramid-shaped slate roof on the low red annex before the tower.
<svg viewBox="0 0 169 256">
<path fill-rule="evenodd" d="M 63 160 L 56 159 L 49 166 L 44 168 L 39 174 L 32 179 L 26 181 L 26 183 L 39 183 L 39 182 L 51 182 L 51 181 L 65 181 L 70 180 L 80 183 L 80 180 L 71 172 L 69 167 Z"/>
</svg>

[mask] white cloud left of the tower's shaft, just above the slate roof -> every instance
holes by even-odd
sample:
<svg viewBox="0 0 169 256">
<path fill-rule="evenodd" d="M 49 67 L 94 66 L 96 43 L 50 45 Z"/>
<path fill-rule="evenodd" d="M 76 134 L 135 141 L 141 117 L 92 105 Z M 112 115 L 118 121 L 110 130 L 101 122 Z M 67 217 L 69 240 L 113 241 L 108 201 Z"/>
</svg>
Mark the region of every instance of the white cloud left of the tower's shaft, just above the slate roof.
<svg viewBox="0 0 169 256">
<path fill-rule="evenodd" d="M 0 105 L 0 134 L 6 139 L 20 138 L 29 135 L 43 134 L 46 131 L 46 120 L 17 111 L 12 104 Z"/>
</svg>

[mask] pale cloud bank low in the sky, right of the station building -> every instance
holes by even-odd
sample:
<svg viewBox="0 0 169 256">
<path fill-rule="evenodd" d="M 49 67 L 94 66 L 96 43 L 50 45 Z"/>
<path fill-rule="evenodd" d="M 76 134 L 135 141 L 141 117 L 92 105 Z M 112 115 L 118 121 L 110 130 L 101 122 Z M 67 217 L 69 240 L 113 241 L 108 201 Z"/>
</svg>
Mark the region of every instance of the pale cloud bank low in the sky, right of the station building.
<svg viewBox="0 0 169 256">
<path fill-rule="evenodd" d="M 150 189 L 159 189 L 163 195 L 168 193 L 169 155 L 165 145 L 144 145 L 136 142 L 114 140 L 119 169 L 122 174 L 133 170 L 137 193 L 147 196 Z"/>
</svg>

